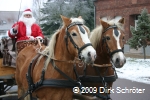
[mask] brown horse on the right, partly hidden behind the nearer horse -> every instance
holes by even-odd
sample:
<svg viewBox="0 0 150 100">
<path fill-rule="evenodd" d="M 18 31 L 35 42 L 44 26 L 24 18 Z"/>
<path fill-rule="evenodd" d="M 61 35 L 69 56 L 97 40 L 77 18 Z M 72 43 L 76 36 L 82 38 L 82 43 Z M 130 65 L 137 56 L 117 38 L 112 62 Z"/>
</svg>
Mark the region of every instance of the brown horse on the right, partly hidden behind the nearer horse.
<svg viewBox="0 0 150 100">
<path fill-rule="evenodd" d="M 91 32 L 90 40 L 97 58 L 93 67 L 78 68 L 81 83 L 85 86 L 81 93 L 92 93 L 100 100 L 110 99 L 111 91 L 108 89 L 117 78 L 115 67 L 121 68 L 126 62 L 123 25 L 124 18 L 117 23 L 100 19 L 100 25 Z M 93 90 L 87 87 L 93 87 Z"/>
</svg>

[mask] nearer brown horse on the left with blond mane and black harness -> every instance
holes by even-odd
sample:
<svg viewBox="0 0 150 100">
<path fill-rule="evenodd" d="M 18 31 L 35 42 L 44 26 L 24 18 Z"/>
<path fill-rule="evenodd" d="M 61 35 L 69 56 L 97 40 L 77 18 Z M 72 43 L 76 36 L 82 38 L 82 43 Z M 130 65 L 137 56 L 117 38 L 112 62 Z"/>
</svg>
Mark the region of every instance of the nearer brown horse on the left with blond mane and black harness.
<svg viewBox="0 0 150 100">
<path fill-rule="evenodd" d="M 96 51 L 91 46 L 88 38 L 90 32 L 84 25 L 83 19 L 64 16 L 61 18 L 63 26 L 53 34 L 49 45 L 41 48 L 42 56 L 37 58 L 35 66 L 29 64 L 31 61 L 35 63 L 33 58 L 36 58 L 39 45 L 27 46 L 19 52 L 15 74 L 18 98 L 28 90 L 30 96 L 33 92 L 39 100 L 72 100 L 73 92 L 69 87 L 79 85 L 78 81 L 74 81 L 76 80 L 74 63 L 78 59 L 82 59 L 87 64 L 95 61 Z M 28 73 L 27 78 L 26 73 Z"/>
</svg>

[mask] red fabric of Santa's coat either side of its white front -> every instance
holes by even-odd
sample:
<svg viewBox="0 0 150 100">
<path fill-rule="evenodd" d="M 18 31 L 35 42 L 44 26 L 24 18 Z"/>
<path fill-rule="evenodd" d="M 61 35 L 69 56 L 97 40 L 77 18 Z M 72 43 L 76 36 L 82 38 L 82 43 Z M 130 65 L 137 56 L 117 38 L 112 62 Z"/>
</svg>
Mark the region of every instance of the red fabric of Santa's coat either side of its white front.
<svg viewBox="0 0 150 100">
<path fill-rule="evenodd" d="M 11 38 L 17 37 L 17 41 L 28 40 L 29 38 L 26 36 L 26 25 L 22 21 L 16 24 L 19 25 L 18 33 L 15 36 L 13 36 L 11 35 L 10 30 L 9 30 L 8 31 L 9 37 Z M 14 27 L 16 24 L 14 24 L 12 27 Z M 33 36 L 34 38 L 36 38 L 37 36 L 41 36 L 42 38 L 44 37 L 39 25 L 33 24 L 31 26 L 31 36 Z"/>
</svg>

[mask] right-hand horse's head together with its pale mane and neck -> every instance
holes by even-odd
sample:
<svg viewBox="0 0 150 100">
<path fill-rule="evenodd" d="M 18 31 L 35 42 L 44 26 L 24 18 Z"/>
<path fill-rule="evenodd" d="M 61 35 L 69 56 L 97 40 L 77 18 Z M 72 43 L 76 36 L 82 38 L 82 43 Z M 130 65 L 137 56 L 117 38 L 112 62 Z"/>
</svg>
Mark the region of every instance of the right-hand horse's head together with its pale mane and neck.
<svg viewBox="0 0 150 100">
<path fill-rule="evenodd" d="M 112 63 L 121 68 L 126 62 L 123 53 L 124 49 L 124 18 L 117 23 L 115 20 L 103 21 L 100 19 L 100 26 L 91 32 L 90 40 L 93 47 L 97 50 L 97 56 L 101 56 L 100 60 L 111 59 Z M 107 55 L 109 57 L 107 57 Z M 108 59 L 107 59 L 108 58 Z M 106 63 L 104 60 L 103 63 Z"/>
</svg>

